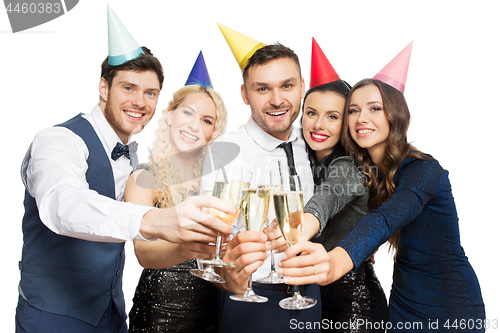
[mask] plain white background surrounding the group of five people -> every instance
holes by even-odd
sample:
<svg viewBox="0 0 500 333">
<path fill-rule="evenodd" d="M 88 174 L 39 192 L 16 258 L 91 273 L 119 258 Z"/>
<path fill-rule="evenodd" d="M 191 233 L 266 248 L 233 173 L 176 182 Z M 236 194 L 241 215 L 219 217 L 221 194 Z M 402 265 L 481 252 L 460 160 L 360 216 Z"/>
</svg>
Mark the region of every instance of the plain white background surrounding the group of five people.
<svg viewBox="0 0 500 333">
<path fill-rule="evenodd" d="M 296 51 L 309 84 L 311 37 L 341 78 L 354 84 L 372 77 L 414 41 L 406 85 L 412 114 L 409 140 L 450 171 L 460 217 L 462 246 L 474 267 L 489 319 L 498 302 L 498 126 L 500 21 L 496 1 L 163 1 L 111 0 L 116 14 L 165 70 L 157 110 L 184 85 L 200 50 L 215 88 L 229 110 L 228 130 L 250 111 L 240 97 L 241 74 L 217 22 L 265 44 L 280 41 Z M 3 176 L 1 331 L 14 331 L 21 258 L 24 189 L 19 167 L 34 135 L 98 101 L 100 64 L 107 55 L 106 2 L 81 0 L 66 15 L 12 34 L 0 9 L 0 110 Z M 160 112 L 143 133 L 151 145 Z M 140 267 L 127 244 L 127 309 Z M 387 294 L 392 263 L 386 247 L 376 270 Z M 495 271 L 495 273 L 493 272 Z"/>
</svg>

